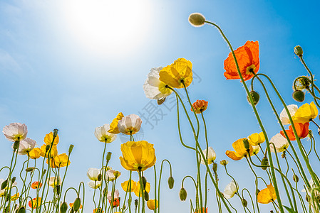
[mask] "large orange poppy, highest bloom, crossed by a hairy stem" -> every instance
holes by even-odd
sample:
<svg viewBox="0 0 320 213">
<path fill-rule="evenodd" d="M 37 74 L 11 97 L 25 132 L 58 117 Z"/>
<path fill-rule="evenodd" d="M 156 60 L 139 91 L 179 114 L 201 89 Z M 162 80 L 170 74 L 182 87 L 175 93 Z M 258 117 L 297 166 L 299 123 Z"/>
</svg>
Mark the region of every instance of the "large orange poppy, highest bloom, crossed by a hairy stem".
<svg viewBox="0 0 320 213">
<path fill-rule="evenodd" d="M 243 79 L 250 80 L 259 70 L 259 43 L 258 41 L 248 40 L 243 46 L 234 50 L 234 55 L 237 58 L 239 70 Z M 237 72 L 237 66 L 234 62 L 232 53 L 229 53 L 228 58 L 224 60 L 224 77 L 227 80 L 240 79 Z"/>
</svg>

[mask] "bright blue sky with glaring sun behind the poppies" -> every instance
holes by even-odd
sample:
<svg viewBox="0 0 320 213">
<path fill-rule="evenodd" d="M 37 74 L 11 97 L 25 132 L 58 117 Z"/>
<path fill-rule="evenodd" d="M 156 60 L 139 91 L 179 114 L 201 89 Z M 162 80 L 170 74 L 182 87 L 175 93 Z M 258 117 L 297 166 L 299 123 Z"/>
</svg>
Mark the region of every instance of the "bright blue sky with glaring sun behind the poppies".
<svg viewBox="0 0 320 213">
<path fill-rule="evenodd" d="M 222 36 L 212 26 L 190 26 L 190 13 L 200 12 L 221 26 L 234 48 L 259 40 L 259 72 L 274 80 L 287 104 L 296 104 L 291 99 L 294 78 L 306 75 L 294 55 L 295 45 L 301 45 L 307 64 L 316 76 L 319 73 L 319 1 L 88 2 L 0 2 L 0 126 L 25 123 L 28 136 L 40 146 L 46 133 L 59 129 L 59 153 L 75 145 L 68 186 L 88 182 L 88 168 L 100 166 L 103 143 L 94 136 L 96 126 L 110 123 L 120 111 L 138 114 L 154 104 L 143 92 L 146 75 L 152 67 L 170 65 L 177 58 L 190 60 L 199 76 L 190 86 L 190 96 L 192 101 L 209 102 L 205 117 L 217 162 L 227 159 L 224 152 L 232 149 L 232 142 L 259 132 L 242 84 L 223 76 L 229 49 Z M 262 94 L 262 88 L 256 88 Z M 311 102 L 309 95 L 306 102 Z M 282 111 L 277 99 L 274 103 Z M 172 162 L 176 185 L 173 190 L 163 187 L 162 211 L 187 212 L 188 202 L 180 202 L 177 193 L 182 178 L 195 175 L 195 160 L 178 141 L 176 110 L 171 107 L 158 108 L 164 114 L 158 124 L 150 118 L 152 126 L 143 119 L 139 137 L 155 144 L 158 168 L 162 159 Z M 263 94 L 257 108 L 269 136 L 274 136 L 280 127 Z M 184 124 L 186 136 L 188 128 Z M 316 131 L 314 126 L 311 129 Z M 11 143 L 4 137 L 0 140 L 4 166 L 11 158 Z M 125 141 L 119 137 L 108 145 L 113 168 L 123 172 L 120 182 L 128 175 L 118 160 L 120 143 Z M 244 160 L 229 161 L 229 171 L 237 177 L 247 169 Z M 319 168 L 319 163 L 314 167 Z M 231 180 L 219 169 L 223 190 Z M 168 171 L 164 174 L 166 180 Z M 153 170 L 146 176 L 152 182 Z M 240 187 L 253 188 L 252 173 L 247 170 L 239 182 Z M 90 200 L 92 190 L 86 190 Z M 191 198 L 192 185 L 187 190 Z M 86 212 L 91 212 L 90 205 Z"/>
</svg>

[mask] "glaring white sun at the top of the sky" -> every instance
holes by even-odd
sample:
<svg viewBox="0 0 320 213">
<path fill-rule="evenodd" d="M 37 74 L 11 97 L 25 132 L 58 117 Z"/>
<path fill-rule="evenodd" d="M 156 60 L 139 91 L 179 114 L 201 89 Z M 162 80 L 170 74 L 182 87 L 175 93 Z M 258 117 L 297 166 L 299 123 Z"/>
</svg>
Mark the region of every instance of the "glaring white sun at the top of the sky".
<svg viewBox="0 0 320 213">
<path fill-rule="evenodd" d="M 66 0 L 63 13 L 71 37 L 104 55 L 138 49 L 150 30 L 150 3 L 145 0 Z"/>
</svg>

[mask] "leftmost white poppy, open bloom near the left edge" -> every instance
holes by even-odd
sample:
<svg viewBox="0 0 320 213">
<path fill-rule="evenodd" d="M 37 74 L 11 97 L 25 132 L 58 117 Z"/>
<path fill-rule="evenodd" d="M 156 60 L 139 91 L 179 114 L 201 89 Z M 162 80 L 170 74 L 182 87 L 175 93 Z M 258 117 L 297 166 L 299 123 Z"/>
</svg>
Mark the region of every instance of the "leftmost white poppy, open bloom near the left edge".
<svg viewBox="0 0 320 213">
<path fill-rule="evenodd" d="M 24 140 L 28 133 L 28 129 L 26 128 L 26 124 L 12 123 L 4 126 L 2 132 L 4 133 L 4 136 L 6 136 L 6 139 L 14 142 Z"/>
</svg>

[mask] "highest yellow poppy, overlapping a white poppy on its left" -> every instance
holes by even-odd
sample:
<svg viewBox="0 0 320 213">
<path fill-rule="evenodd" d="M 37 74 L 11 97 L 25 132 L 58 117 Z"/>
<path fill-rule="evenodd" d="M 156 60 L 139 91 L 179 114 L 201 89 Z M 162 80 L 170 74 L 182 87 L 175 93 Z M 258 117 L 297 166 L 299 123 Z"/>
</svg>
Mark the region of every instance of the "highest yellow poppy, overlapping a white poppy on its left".
<svg viewBox="0 0 320 213">
<path fill-rule="evenodd" d="M 189 87 L 192 82 L 192 62 L 185 58 L 179 58 L 171 65 L 162 68 L 159 72 L 159 80 L 173 88 Z"/>
</svg>

